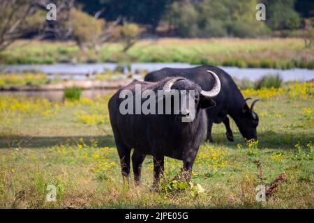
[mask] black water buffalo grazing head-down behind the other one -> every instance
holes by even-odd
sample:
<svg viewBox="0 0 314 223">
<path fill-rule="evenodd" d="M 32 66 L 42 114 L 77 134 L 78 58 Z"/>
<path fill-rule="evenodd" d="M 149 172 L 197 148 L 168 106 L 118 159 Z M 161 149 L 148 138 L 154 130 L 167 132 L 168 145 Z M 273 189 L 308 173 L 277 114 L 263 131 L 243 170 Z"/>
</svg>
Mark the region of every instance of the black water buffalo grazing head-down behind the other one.
<svg viewBox="0 0 314 223">
<path fill-rule="evenodd" d="M 144 80 L 146 82 L 158 82 L 166 77 L 185 77 L 199 84 L 202 89 L 211 89 L 214 85 L 213 77 L 207 75 L 207 70 L 215 72 L 221 82 L 221 91 L 214 98 L 216 106 L 212 109 L 207 109 L 208 128 L 207 140 L 213 141 L 211 137 L 211 128 L 214 123 L 225 124 L 227 130 L 227 139 L 233 141 L 233 134 L 230 128 L 229 118 L 227 114 L 233 118 L 237 124 L 242 136 L 249 139 L 257 139 L 256 128 L 258 125 L 258 116 L 254 112 L 254 105 L 257 100 L 254 100 L 251 108 L 246 104 L 246 100 L 234 83 L 234 80 L 224 70 L 214 66 L 198 66 L 195 68 L 163 68 L 149 72 Z"/>
</svg>

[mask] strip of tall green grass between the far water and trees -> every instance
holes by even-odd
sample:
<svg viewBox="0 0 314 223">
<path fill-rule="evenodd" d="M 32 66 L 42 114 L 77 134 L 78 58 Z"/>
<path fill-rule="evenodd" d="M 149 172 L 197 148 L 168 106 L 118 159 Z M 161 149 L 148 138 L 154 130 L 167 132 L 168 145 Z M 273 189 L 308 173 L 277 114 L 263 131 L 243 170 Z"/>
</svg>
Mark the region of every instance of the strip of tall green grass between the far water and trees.
<svg viewBox="0 0 314 223">
<path fill-rule="evenodd" d="M 185 62 L 249 68 L 314 68 L 314 50 L 301 38 L 139 40 L 128 52 L 107 43 L 96 54 L 72 42 L 20 40 L 0 54 L 0 63 Z"/>
</svg>

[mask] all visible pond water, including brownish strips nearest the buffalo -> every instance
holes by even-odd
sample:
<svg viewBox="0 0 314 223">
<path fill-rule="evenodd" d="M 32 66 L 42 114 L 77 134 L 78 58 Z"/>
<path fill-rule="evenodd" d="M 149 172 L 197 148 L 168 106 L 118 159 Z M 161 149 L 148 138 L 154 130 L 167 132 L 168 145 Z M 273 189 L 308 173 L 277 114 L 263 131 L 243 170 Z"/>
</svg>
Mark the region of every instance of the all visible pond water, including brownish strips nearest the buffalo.
<svg viewBox="0 0 314 223">
<path fill-rule="evenodd" d="M 188 63 L 132 63 L 130 65 L 131 71 L 135 73 L 136 70 L 159 70 L 161 68 L 192 68 L 196 65 L 190 65 Z M 126 66 L 125 66 L 126 67 Z M 48 77 L 55 78 L 52 74 L 59 74 L 61 79 L 87 79 L 93 77 L 96 72 L 103 72 L 104 70 L 114 70 L 117 68 L 117 63 L 86 63 L 86 64 L 67 64 L 57 63 L 52 65 L 0 65 L 0 70 L 5 72 L 18 72 L 27 70 L 38 70 L 48 74 Z M 234 67 L 220 67 L 223 68 L 232 77 L 237 79 L 250 79 L 255 81 L 263 77 L 264 75 L 279 74 L 284 81 L 300 80 L 307 81 L 314 79 L 314 70 L 308 69 L 292 69 L 292 70 L 276 70 L 267 68 L 234 68 Z M 124 69 L 127 70 L 126 68 Z M 141 79 L 142 76 L 135 73 L 134 78 Z M 112 79 L 126 78 L 126 75 L 113 75 Z M 98 95 L 106 95 L 112 93 L 112 90 L 84 90 L 82 91 L 82 97 L 95 98 Z M 63 91 L 2 91 L 0 94 L 9 95 L 23 95 L 27 97 L 35 98 L 47 98 L 51 101 L 63 100 Z"/>
</svg>

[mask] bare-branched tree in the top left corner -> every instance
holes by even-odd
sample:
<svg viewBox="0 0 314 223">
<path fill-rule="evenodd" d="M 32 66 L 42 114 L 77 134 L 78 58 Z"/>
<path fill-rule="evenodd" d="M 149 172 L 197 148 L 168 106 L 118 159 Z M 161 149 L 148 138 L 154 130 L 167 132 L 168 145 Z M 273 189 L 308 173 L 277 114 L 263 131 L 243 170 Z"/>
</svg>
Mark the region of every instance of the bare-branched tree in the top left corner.
<svg viewBox="0 0 314 223">
<path fill-rule="evenodd" d="M 36 38 L 47 37 L 47 33 L 55 36 L 66 36 L 60 33 L 59 24 L 63 24 L 68 8 L 74 0 L 3 0 L 0 4 L 0 50 L 5 49 L 18 38 L 28 33 L 36 34 Z M 46 20 L 46 6 L 55 3 L 58 6 L 58 22 Z M 59 34 L 59 35 L 57 35 Z M 34 38 L 34 37 L 33 37 Z"/>
</svg>

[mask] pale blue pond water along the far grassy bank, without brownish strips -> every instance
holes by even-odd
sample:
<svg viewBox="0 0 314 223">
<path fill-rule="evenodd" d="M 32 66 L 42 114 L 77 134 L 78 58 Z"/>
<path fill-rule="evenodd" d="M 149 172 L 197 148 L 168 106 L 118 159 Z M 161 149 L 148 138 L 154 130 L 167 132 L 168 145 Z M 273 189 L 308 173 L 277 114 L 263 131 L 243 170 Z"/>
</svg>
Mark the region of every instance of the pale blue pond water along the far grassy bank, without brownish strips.
<svg viewBox="0 0 314 223">
<path fill-rule="evenodd" d="M 161 68 L 192 68 L 196 65 L 190 65 L 188 63 L 132 63 L 130 65 L 131 71 L 147 70 L 153 71 Z M 103 72 L 104 70 L 114 70 L 117 67 L 117 63 L 57 63 L 52 65 L 0 65 L 0 70 L 6 72 L 15 72 L 22 70 L 38 70 L 48 74 L 58 73 L 63 74 L 63 78 L 73 79 L 85 79 L 88 78 L 87 74 L 93 72 Z M 284 81 L 300 80 L 307 81 L 314 79 L 314 70 L 295 68 L 291 70 L 278 70 L 269 68 L 235 68 L 235 67 L 220 67 L 223 68 L 232 77 L 237 79 L 247 78 L 251 81 L 260 79 L 264 75 L 279 74 Z M 126 70 L 126 69 L 125 69 Z M 121 75 L 121 77 L 124 77 Z M 121 78 L 119 76 L 113 78 Z M 135 77 L 135 78 L 139 78 Z"/>
</svg>

